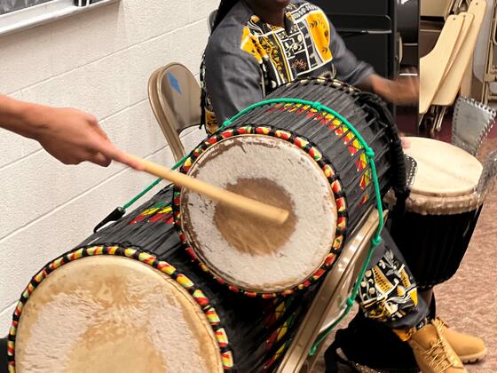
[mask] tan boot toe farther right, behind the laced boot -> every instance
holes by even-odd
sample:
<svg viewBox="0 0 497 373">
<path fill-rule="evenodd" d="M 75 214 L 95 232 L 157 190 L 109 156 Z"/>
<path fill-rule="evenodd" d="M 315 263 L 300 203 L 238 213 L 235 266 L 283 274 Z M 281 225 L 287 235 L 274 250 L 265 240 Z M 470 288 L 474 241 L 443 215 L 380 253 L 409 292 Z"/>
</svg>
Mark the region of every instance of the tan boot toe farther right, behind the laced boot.
<svg viewBox="0 0 497 373">
<path fill-rule="evenodd" d="M 450 329 L 448 325 L 439 318 L 433 321 L 434 325 L 442 332 L 447 342 L 452 345 L 462 362 L 475 362 L 483 359 L 486 355 L 485 342 L 478 337 L 458 333 Z"/>
</svg>

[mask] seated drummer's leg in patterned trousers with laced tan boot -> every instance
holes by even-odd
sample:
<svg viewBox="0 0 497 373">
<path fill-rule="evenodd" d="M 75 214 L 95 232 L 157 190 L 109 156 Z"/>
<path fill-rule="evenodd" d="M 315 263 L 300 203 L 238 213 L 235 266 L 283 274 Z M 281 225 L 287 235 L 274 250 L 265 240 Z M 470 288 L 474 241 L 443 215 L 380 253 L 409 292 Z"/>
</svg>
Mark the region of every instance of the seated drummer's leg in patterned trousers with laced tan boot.
<svg viewBox="0 0 497 373">
<path fill-rule="evenodd" d="M 413 349 L 425 373 L 461 373 L 465 369 L 441 329 L 431 321 L 413 275 L 388 232 L 383 233 L 384 254 L 371 267 L 359 288 L 359 305 L 365 315 L 382 322 Z"/>
</svg>

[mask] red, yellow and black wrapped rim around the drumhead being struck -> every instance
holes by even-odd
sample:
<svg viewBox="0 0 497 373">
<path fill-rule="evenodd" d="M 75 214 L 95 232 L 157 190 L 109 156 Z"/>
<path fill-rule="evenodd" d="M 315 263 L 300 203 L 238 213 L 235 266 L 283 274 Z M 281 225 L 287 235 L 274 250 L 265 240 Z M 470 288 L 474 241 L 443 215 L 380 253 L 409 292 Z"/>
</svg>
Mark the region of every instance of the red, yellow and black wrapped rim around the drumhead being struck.
<svg viewBox="0 0 497 373">
<path fill-rule="evenodd" d="M 333 163 L 329 162 L 324 155 L 322 155 L 319 151 L 319 148 L 312 144 L 311 141 L 305 139 L 298 134 L 295 134 L 292 131 L 281 130 L 274 128 L 270 125 L 263 124 L 244 124 L 243 126 L 235 126 L 225 129 L 224 131 L 218 131 L 217 133 L 209 136 L 205 139 L 201 145 L 193 149 L 190 155 L 185 159 L 185 162 L 180 168 L 180 171 L 183 173 L 188 173 L 188 171 L 193 166 L 193 163 L 199 158 L 205 150 L 223 139 L 230 139 L 234 136 L 239 135 L 264 135 L 264 136 L 272 136 L 277 139 L 282 139 L 288 141 L 289 143 L 295 145 L 296 147 L 300 147 L 304 150 L 305 153 L 310 155 L 314 162 L 316 162 L 323 171 L 323 174 L 328 179 L 330 183 L 331 190 L 333 192 L 333 196 L 335 198 L 336 205 L 336 227 L 335 227 L 335 239 L 330 245 L 329 252 L 327 256 L 324 258 L 321 266 L 319 266 L 312 274 L 310 274 L 303 282 L 296 284 L 295 286 L 288 287 L 286 290 L 278 290 L 271 292 L 264 291 L 255 291 L 251 289 L 244 289 L 239 287 L 231 282 L 227 282 L 225 279 L 219 277 L 209 266 L 207 266 L 201 258 L 195 253 L 193 247 L 186 239 L 186 234 L 182 228 L 182 219 L 181 219 L 181 188 L 175 186 L 175 198 L 173 200 L 173 210 L 175 226 L 177 227 L 178 234 L 181 238 L 181 241 L 185 244 L 186 251 L 193 258 L 194 261 L 199 263 L 202 270 L 208 272 L 212 277 L 214 277 L 217 282 L 224 284 L 229 287 L 230 290 L 235 292 L 239 292 L 248 297 L 262 297 L 262 298 L 277 298 L 281 295 L 288 296 L 293 294 L 296 291 L 301 291 L 309 288 L 313 283 L 319 282 L 322 278 L 323 274 L 327 273 L 327 270 L 331 268 L 335 264 L 336 258 L 341 253 L 343 248 L 343 242 L 345 241 L 345 237 L 347 234 L 348 228 L 348 208 L 345 200 L 344 189 L 342 185 L 342 180 L 335 173 L 335 168 Z M 321 167 L 319 163 L 323 163 L 324 165 Z M 326 167 L 326 171 L 323 170 L 323 167 Z"/>
</svg>

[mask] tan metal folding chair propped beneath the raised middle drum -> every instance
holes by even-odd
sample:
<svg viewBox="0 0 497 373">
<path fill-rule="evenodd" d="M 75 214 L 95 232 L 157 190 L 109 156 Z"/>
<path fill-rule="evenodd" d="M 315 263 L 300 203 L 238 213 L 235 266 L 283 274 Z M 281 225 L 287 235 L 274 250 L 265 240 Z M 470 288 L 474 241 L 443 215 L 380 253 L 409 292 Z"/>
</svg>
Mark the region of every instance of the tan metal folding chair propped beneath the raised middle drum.
<svg viewBox="0 0 497 373">
<path fill-rule="evenodd" d="M 386 218 L 387 211 L 384 216 Z M 309 311 L 296 331 L 288 352 L 280 363 L 277 373 L 311 372 L 323 344 L 310 356 L 309 351 L 319 335 L 342 317 L 347 309 L 354 283 L 367 258 L 371 238 L 378 227 L 378 211 L 371 210 L 351 234 L 335 266 L 326 275 Z"/>
</svg>

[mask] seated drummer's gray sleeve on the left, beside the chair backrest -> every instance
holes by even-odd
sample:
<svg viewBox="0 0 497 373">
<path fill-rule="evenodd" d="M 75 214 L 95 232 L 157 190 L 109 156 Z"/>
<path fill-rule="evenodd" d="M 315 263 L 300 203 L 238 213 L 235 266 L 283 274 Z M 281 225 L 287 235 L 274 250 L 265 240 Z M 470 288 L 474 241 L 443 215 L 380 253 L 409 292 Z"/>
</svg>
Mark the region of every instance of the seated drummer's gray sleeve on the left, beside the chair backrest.
<svg viewBox="0 0 497 373">
<path fill-rule="evenodd" d="M 217 123 L 263 99 L 261 70 L 256 59 L 240 48 L 208 48 L 205 83 Z"/>
</svg>

